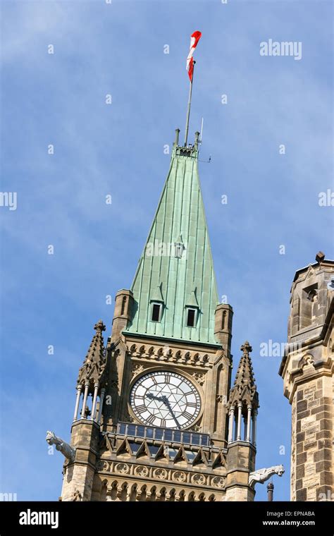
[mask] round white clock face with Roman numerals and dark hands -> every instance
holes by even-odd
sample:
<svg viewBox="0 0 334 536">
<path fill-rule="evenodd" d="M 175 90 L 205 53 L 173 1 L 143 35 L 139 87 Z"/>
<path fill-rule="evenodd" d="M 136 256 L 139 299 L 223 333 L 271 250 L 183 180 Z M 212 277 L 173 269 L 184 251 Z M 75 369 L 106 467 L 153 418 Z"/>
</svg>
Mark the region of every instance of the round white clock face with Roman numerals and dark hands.
<svg viewBox="0 0 334 536">
<path fill-rule="evenodd" d="M 197 389 L 175 372 L 144 374 L 132 386 L 130 404 L 145 425 L 178 430 L 192 425 L 201 410 Z"/>
</svg>

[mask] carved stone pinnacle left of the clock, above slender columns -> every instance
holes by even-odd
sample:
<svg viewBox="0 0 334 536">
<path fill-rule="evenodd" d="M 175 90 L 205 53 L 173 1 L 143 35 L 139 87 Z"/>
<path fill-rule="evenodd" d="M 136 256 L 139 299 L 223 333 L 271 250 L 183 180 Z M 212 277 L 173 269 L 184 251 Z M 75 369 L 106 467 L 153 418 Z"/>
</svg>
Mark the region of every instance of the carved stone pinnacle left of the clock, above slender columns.
<svg viewBox="0 0 334 536">
<path fill-rule="evenodd" d="M 83 362 L 83 366 L 79 370 L 78 384 L 89 384 L 89 390 L 94 389 L 94 385 L 100 384 L 101 376 L 106 366 L 105 348 L 103 331 L 106 331 L 106 326 L 99 320 L 94 325 L 96 334 L 92 338 L 92 342 L 87 351 L 87 355 Z"/>
</svg>

